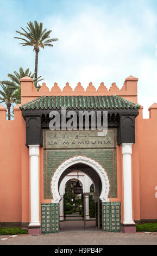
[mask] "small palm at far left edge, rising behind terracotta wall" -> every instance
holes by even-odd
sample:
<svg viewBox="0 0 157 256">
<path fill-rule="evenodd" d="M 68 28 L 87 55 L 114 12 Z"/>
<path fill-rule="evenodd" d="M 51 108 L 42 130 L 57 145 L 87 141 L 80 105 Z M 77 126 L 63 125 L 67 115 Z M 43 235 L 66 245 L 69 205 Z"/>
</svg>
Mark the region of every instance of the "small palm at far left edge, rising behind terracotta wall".
<svg viewBox="0 0 157 256">
<path fill-rule="evenodd" d="M 0 103 L 4 102 L 8 109 L 8 120 L 10 120 L 10 109 L 12 103 L 18 103 L 15 95 L 15 88 L 8 86 L 7 84 L 0 84 L 3 90 L 0 90 Z"/>
</svg>

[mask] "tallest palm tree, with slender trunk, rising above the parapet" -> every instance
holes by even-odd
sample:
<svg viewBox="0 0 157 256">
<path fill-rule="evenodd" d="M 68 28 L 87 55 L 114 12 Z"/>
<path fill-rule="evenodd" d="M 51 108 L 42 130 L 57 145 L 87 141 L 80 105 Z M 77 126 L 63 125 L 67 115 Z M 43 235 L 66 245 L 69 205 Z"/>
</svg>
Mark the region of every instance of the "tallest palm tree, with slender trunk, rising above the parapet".
<svg viewBox="0 0 157 256">
<path fill-rule="evenodd" d="M 57 38 L 50 38 L 50 33 L 52 31 L 47 31 L 47 29 L 42 28 L 42 23 L 37 23 L 37 21 L 33 22 L 27 22 L 28 27 L 27 30 L 22 28 L 23 32 L 16 31 L 16 33 L 24 36 L 24 38 L 14 37 L 16 39 L 21 39 L 24 42 L 21 42 L 20 45 L 22 46 L 33 46 L 35 51 L 35 78 L 37 78 L 37 64 L 38 64 L 38 54 L 41 48 L 45 48 L 45 46 L 53 47 L 53 44 L 51 44 L 54 41 L 57 41 Z"/>
</svg>

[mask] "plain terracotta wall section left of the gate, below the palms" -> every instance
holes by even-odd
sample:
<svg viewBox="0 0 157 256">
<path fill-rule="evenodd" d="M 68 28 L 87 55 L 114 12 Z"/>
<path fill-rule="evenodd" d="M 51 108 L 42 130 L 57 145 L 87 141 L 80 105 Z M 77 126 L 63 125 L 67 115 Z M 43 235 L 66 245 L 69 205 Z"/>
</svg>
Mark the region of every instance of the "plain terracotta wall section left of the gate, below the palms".
<svg viewBox="0 0 157 256">
<path fill-rule="evenodd" d="M 15 120 L 6 120 L 0 105 L 0 222 L 21 221 L 21 118 L 15 110 Z"/>
</svg>

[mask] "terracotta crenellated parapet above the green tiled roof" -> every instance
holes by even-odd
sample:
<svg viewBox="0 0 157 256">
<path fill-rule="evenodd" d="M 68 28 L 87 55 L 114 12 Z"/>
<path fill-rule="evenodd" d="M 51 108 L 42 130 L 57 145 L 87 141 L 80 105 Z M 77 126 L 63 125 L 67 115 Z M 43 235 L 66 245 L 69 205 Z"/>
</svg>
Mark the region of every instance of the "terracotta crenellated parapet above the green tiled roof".
<svg viewBox="0 0 157 256">
<path fill-rule="evenodd" d="M 93 86 L 93 83 L 90 82 L 89 86 L 87 86 L 86 90 L 81 83 L 78 82 L 77 86 L 72 89 L 72 86 L 66 82 L 65 87 L 61 90 L 58 84 L 55 82 L 54 86 L 49 90 L 46 86 L 46 83 L 42 83 L 42 87 L 39 91 L 35 88 L 32 78 L 25 76 L 21 80 L 21 102 L 22 105 L 31 100 L 36 99 L 36 97 L 40 97 L 42 95 L 46 96 L 112 96 L 118 95 L 122 96 L 127 100 L 133 101 L 137 103 L 137 81 L 138 78 L 134 76 L 129 76 L 124 81 L 124 86 L 119 89 L 116 83 L 112 83 L 110 88 L 107 89 L 104 86 L 104 82 L 101 82 L 98 89 Z"/>
</svg>

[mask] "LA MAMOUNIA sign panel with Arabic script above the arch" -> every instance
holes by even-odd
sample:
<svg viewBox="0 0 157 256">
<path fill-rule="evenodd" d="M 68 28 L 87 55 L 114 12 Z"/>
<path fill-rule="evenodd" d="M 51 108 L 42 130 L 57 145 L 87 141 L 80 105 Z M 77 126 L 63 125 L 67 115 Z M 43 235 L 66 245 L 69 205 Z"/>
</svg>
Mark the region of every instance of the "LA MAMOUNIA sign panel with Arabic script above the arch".
<svg viewBox="0 0 157 256">
<path fill-rule="evenodd" d="M 106 136 L 98 136 L 97 131 L 46 131 L 47 149 L 114 147 L 114 130 L 108 130 Z"/>
</svg>

